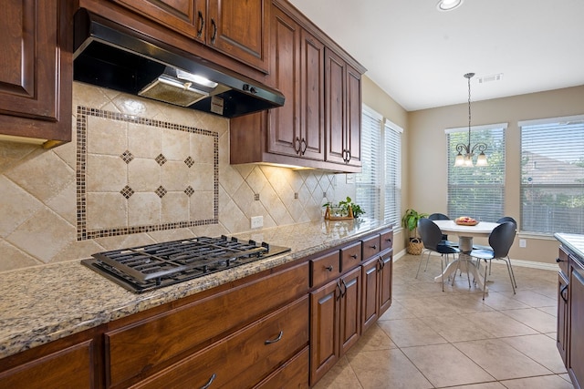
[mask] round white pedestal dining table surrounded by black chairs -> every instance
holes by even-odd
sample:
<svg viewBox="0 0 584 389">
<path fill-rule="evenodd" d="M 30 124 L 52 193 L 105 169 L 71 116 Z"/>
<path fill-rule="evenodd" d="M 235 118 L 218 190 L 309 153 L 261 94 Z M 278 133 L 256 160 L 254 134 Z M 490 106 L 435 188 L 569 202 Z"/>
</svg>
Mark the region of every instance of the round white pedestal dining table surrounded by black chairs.
<svg viewBox="0 0 584 389">
<path fill-rule="evenodd" d="M 456 269 L 460 268 L 463 271 L 467 271 L 469 276 L 470 274 L 473 274 L 474 281 L 481 289 L 481 291 L 485 290 L 485 292 L 488 292 L 488 288 L 486 288 L 485 285 L 485 278 L 481 276 L 476 265 L 472 261 L 472 257 L 468 254 L 473 251 L 473 238 L 488 237 L 491 232 L 495 230 L 495 227 L 499 225 L 499 223 L 480 221 L 475 226 L 459 225 L 456 224 L 454 220 L 434 220 L 434 223 L 440 227 L 440 230 L 442 230 L 443 234 L 454 234 L 458 236 L 458 248 L 460 249 L 458 258 L 450 262 L 442 274 L 434 277 L 434 281 L 442 282 L 443 277 L 450 277 L 450 275 L 456 271 Z"/>
</svg>

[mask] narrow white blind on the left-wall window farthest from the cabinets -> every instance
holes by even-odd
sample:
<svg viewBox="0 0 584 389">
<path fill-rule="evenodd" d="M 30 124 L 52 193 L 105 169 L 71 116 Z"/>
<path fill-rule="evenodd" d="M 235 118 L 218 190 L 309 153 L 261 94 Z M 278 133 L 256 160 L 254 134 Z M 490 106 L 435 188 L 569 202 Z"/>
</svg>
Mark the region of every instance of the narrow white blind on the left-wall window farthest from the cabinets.
<svg viewBox="0 0 584 389">
<path fill-rule="evenodd" d="M 403 130 L 385 121 L 384 138 L 384 201 L 383 219 L 395 228 L 401 223 L 401 133 Z"/>
</svg>

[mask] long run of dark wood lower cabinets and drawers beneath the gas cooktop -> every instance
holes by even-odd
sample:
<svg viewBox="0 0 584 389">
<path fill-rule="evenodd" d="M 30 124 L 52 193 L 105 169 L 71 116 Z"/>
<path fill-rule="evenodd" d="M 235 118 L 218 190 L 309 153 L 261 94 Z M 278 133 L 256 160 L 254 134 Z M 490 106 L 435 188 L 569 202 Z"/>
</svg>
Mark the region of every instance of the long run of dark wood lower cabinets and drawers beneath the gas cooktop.
<svg viewBox="0 0 584 389">
<path fill-rule="evenodd" d="M 0 389 L 308 388 L 391 304 L 392 251 L 379 242 L 371 234 L 8 356 Z"/>
</svg>

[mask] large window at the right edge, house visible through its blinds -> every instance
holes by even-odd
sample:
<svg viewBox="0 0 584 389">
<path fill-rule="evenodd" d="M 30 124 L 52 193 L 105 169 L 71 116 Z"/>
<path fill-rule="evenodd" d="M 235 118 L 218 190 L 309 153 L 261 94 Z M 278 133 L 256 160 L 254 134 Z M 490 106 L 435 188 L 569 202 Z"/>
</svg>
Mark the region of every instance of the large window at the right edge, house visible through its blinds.
<svg viewBox="0 0 584 389">
<path fill-rule="evenodd" d="M 584 115 L 519 122 L 521 230 L 584 232 Z"/>
</svg>

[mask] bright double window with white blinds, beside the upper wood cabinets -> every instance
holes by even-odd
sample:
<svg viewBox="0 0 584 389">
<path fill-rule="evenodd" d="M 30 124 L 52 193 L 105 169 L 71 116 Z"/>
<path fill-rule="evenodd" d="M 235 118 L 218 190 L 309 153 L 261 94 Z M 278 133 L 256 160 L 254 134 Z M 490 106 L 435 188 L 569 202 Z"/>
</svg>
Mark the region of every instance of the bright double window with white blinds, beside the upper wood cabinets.
<svg viewBox="0 0 584 389">
<path fill-rule="evenodd" d="M 400 226 L 402 129 L 363 107 L 361 162 L 355 175 L 356 200 L 366 217 Z"/>
</svg>

